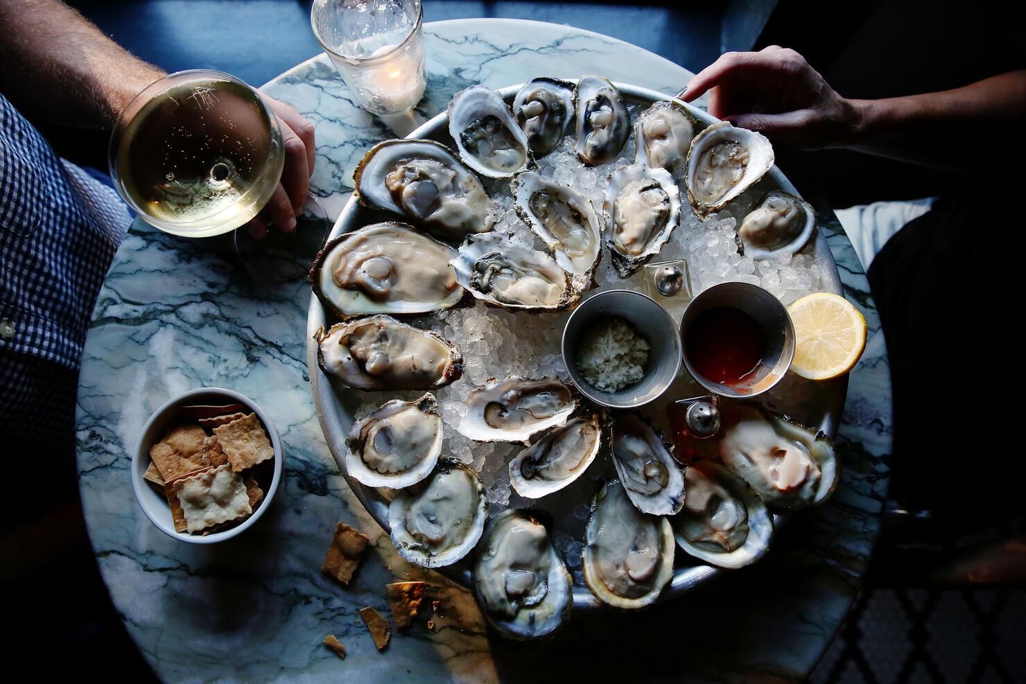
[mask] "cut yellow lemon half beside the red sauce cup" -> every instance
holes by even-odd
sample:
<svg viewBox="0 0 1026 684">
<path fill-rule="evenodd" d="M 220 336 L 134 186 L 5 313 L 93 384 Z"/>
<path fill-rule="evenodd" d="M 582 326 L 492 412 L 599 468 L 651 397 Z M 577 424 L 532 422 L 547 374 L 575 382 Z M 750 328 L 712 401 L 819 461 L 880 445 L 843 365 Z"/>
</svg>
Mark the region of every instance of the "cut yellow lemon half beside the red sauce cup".
<svg viewBox="0 0 1026 684">
<path fill-rule="evenodd" d="M 816 292 L 803 296 L 787 313 L 794 323 L 791 370 L 825 380 L 850 371 L 866 348 L 866 319 L 842 296 Z"/>
</svg>

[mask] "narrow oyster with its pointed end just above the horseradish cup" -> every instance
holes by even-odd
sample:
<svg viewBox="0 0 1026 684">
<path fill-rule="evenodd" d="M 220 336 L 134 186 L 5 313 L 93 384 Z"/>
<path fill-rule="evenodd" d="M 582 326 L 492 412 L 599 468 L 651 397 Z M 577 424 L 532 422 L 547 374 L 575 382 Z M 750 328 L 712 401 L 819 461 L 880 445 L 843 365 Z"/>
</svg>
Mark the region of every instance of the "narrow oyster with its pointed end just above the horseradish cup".
<svg viewBox="0 0 1026 684">
<path fill-rule="evenodd" d="M 542 238 L 556 264 L 574 276 L 582 276 L 578 289 L 591 281 L 601 253 L 602 226 L 581 193 L 525 171 L 510 183 L 513 207 L 535 235 Z"/>
</svg>

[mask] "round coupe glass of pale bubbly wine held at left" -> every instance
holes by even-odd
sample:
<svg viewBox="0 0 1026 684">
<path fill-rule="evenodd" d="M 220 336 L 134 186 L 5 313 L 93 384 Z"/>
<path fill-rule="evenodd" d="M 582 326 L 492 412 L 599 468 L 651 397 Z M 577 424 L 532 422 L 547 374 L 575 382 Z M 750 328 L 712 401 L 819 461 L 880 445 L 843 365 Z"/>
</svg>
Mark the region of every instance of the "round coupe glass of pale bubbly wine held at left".
<svg viewBox="0 0 1026 684">
<path fill-rule="evenodd" d="M 125 202 L 186 237 L 228 233 L 255 216 L 284 163 L 278 119 L 260 93 L 205 69 L 147 86 L 121 112 L 108 150 Z"/>
</svg>

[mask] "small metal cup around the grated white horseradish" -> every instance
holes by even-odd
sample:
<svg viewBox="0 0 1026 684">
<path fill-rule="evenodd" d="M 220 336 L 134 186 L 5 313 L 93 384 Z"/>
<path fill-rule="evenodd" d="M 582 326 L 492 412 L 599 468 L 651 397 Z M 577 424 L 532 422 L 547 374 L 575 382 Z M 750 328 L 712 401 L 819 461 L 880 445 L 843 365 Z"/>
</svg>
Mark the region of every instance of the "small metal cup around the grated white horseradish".
<svg viewBox="0 0 1026 684">
<path fill-rule="evenodd" d="M 609 318 L 623 318 L 648 343 L 644 376 L 617 392 L 602 392 L 588 385 L 577 367 L 578 344 Z M 606 290 L 585 299 L 570 314 L 563 328 L 563 363 L 581 393 L 596 404 L 634 408 L 662 395 L 680 369 L 680 335 L 673 319 L 649 296 L 633 290 Z"/>
</svg>

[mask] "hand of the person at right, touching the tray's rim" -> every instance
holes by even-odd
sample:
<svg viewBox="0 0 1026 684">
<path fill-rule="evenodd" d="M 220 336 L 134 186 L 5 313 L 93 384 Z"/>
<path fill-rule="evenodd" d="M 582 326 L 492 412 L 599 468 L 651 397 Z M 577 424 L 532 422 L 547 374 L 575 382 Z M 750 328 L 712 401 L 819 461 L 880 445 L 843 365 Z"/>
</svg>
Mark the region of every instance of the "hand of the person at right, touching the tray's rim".
<svg viewBox="0 0 1026 684">
<path fill-rule="evenodd" d="M 709 92 L 709 113 L 801 148 L 853 142 L 859 110 L 841 97 L 805 58 L 771 45 L 758 52 L 726 52 L 699 72 L 682 95 Z"/>
</svg>

